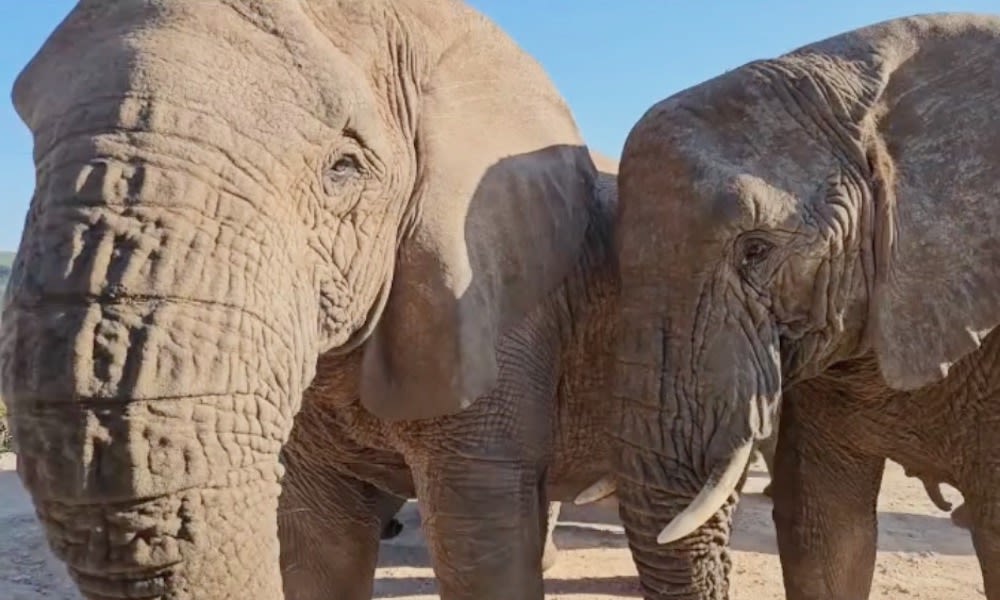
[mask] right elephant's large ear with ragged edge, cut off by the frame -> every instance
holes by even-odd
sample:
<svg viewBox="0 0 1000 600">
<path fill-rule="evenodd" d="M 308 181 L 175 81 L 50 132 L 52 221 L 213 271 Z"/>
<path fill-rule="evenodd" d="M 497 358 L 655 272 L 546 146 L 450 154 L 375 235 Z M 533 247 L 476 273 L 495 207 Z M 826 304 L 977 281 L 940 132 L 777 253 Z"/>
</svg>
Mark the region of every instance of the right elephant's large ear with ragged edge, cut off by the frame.
<svg viewBox="0 0 1000 600">
<path fill-rule="evenodd" d="M 942 379 L 1000 323 L 1000 22 L 896 27 L 895 55 L 876 53 L 895 64 L 869 151 L 871 339 L 886 382 L 912 390 Z"/>
</svg>

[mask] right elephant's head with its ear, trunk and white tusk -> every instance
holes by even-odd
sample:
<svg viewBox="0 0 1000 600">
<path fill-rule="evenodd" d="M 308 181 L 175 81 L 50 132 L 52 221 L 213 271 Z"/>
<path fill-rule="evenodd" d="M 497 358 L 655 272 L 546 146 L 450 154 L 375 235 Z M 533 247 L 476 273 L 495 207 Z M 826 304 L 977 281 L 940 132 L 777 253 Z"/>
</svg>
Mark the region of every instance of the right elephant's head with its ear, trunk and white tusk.
<svg viewBox="0 0 1000 600">
<path fill-rule="evenodd" d="M 650 596 L 726 597 L 734 491 L 783 385 L 871 357 L 918 388 L 1000 322 L 998 48 L 994 17 L 880 23 L 630 132 L 618 495 Z"/>
</svg>

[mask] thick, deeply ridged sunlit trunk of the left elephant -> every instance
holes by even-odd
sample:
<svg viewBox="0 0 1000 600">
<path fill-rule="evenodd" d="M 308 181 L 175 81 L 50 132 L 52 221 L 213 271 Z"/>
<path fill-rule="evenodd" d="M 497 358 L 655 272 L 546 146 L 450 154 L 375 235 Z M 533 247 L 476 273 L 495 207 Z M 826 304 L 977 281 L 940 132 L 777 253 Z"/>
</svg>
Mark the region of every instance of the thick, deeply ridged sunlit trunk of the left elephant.
<svg viewBox="0 0 1000 600">
<path fill-rule="evenodd" d="M 41 177 L 0 328 L 50 545 L 90 598 L 280 598 L 278 455 L 315 313 L 263 236 L 227 229 L 246 196 L 87 164 Z"/>
</svg>

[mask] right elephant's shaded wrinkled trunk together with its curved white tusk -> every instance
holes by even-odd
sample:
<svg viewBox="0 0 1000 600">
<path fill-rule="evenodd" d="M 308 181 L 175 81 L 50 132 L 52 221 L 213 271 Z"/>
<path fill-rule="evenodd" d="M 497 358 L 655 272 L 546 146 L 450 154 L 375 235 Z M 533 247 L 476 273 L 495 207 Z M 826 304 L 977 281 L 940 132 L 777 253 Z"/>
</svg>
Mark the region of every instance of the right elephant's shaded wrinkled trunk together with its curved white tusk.
<svg viewBox="0 0 1000 600">
<path fill-rule="evenodd" d="M 649 314 L 659 306 L 623 310 L 615 375 L 619 512 L 645 597 L 722 600 L 736 492 L 755 437 L 768 433 L 760 407 L 769 405 L 750 396 L 780 385 L 754 376 L 734 381 L 758 372 L 733 360 L 745 344 L 711 335 L 705 323 L 689 329 L 704 338 L 672 334 L 657 326 L 666 319 Z M 768 378 L 777 381 L 776 374 L 769 370 Z"/>
</svg>

